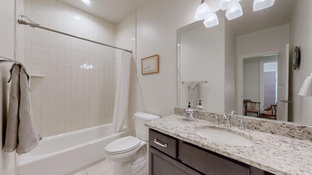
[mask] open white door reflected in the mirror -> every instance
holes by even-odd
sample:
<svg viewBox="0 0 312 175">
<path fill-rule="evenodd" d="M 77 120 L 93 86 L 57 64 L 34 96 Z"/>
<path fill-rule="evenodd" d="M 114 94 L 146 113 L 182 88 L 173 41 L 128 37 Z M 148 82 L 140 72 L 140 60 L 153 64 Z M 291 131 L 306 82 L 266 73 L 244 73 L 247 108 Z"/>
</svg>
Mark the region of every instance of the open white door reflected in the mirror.
<svg viewBox="0 0 312 175">
<path fill-rule="evenodd" d="M 277 120 L 288 119 L 289 44 L 278 53 Z"/>
</svg>

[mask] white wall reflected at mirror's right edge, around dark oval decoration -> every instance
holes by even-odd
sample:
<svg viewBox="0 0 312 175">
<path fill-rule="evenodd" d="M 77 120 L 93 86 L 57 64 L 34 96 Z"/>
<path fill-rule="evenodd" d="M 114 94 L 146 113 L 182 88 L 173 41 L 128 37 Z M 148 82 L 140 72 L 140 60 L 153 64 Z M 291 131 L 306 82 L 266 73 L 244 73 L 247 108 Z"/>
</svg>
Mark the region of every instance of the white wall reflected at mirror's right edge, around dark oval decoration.
<svg viewBox="0 0 312 175">
<path fill-rule="evenodd" d="M 296 123 L 312 124 L 312 97 L 302 97 L 298 92 L 305 78 L 312 70 L 312 1 L 297 0 L 290 23 L 290 94 L 289 120 Z M 300 9 L 300 10 L 299 10 Z M 300 65 L 297 70 L 292 69 L 292 54 L 294 47 L 300 50 Z"/>
</svg>

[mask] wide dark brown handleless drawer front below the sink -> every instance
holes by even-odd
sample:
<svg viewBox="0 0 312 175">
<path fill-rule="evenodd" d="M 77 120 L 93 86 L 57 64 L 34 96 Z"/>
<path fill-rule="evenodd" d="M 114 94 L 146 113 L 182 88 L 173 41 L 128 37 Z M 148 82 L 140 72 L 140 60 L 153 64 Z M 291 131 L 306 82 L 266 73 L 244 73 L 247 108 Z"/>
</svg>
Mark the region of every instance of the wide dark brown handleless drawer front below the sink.
<svg viewBox="0 0 312 175">
<path fill-rule="evenodd" d="M 249 175 L 249 167 L 182 143 L 182 162 L 206 175 Z"/>
</svg>

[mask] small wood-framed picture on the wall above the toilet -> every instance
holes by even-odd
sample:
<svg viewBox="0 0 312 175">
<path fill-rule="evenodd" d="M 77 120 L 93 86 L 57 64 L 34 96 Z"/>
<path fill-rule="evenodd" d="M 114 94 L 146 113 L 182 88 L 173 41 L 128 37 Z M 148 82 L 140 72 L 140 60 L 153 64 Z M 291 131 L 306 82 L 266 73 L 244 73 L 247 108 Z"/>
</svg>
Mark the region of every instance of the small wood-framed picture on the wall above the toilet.
<svg viewBox="0 0 312 175">
<path fill-rule="evenodd" d="M 158 58 L 159 58 L 158 55 L 154 55 L 154 56 L 141 59 L 142 75 L 159 72 L 159 69 L 158 69 L 159 59 Z"/>
</svg>

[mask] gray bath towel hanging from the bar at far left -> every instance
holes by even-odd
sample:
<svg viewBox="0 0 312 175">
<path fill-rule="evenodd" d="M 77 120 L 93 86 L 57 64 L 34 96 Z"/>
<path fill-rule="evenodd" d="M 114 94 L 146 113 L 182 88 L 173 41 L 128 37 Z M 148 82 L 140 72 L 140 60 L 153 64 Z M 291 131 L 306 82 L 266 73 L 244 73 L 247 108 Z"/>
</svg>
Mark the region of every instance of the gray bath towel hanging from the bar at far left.
<svg viewBox="0 0 312 175">
<path fill-rule="evenodd" d="M 24 154 L 39 143 L 31 108 L 30 75 L 20 64 L 14 64 L 10 72 L 10 102 L 4 151 L 13 152 L 16 149 L 16 153 Z"/>
</svg>

